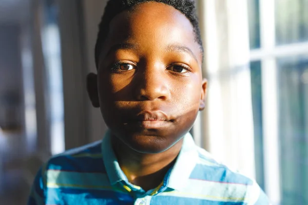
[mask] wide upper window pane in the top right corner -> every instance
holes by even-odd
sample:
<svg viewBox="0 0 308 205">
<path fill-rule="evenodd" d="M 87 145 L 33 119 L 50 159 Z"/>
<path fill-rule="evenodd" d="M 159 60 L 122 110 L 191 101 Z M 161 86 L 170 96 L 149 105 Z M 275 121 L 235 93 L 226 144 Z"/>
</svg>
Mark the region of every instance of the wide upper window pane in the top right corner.
<svg viewBox="0 0 308 205">
<path fill-rule="evenodd" d="M 308 40 L 308 0 L 276 0 L 276 43 Z"/>
</svg>

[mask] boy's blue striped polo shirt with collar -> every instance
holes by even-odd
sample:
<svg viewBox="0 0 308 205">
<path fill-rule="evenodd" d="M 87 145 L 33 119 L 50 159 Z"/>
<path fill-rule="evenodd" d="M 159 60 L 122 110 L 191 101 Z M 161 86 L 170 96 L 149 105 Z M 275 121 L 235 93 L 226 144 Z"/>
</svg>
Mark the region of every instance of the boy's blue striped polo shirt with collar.
<svg viewBox="0 0 308 205">
<path fill-rule="evenodd" d="M 269 204 L 257 183 L 218 163 L 197 147 L 191 135 L 156 189 L 132 185 L 103 140 L 53 156 L 38 171 L 29 205 L 76 204 Z"/>
</svg>

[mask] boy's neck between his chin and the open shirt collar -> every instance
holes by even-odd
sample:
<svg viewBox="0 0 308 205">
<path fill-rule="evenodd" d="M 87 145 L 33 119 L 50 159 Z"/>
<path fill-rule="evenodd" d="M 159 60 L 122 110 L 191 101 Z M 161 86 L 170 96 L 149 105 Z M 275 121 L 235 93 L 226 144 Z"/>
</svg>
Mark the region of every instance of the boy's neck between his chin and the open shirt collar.
<svg viewBox="0 0 308 205">
<path fill-rule="evenodd" d="M 144 154 L 127 147 L 112 136 L 112 147 L 128 181 L 148 191 L 157 188 L 167 171 L 174 165 L 183 145 L 183 138 L 168 150 L 158 154 Z"/>
</svg>

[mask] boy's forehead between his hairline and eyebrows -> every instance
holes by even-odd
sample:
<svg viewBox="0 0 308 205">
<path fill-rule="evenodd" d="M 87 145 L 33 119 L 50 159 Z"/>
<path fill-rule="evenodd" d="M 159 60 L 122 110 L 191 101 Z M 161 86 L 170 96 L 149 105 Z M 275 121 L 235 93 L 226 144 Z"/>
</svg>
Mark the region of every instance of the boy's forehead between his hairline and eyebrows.
<svg viewBox="0 0 308 205">
<path fill-rule="evenodd" d="M 123 42 L 140 44 L 141 47 L 148 45 L 151 49 L 180 45 L 189 48 L 200 64 L 202 62 L 200 46 L 190 21 L 180 11 L 162 3 L 143 3 L 115 16 L 110 22 L 103 53 Z"/>
</svg>

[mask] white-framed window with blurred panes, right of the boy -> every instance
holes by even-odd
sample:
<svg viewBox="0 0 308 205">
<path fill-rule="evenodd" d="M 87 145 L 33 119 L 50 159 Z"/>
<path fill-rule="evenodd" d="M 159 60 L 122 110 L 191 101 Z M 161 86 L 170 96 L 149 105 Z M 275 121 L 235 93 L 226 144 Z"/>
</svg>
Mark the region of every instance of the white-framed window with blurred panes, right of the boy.
<svg viewBox="0 0 308 205">
<path fill-rule="evenodd" d="M 307 9 L 248 1 L 256 176 L 274 204 L 308 204 Z"/>
</svg>

